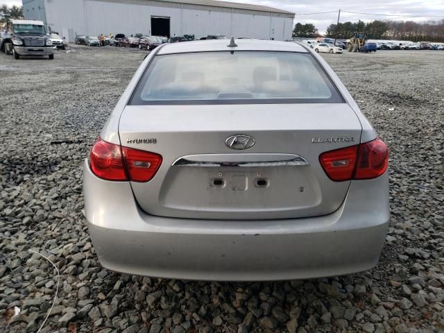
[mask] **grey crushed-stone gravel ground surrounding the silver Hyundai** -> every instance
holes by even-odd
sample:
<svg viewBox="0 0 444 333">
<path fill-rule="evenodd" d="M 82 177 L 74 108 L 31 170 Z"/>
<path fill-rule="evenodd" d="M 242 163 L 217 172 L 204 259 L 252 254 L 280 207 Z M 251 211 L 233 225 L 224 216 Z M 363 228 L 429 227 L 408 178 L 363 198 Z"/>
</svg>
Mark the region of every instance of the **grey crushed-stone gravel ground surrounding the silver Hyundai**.
<svg viewBox="0 0 444 333">
<path fill-rule="evenodd" d="M 51 307 L 56 269 L 31 250 L 60 271 L 41 332 L 444 332 L 444 51 L 324 55 L 391 150 L 386 245 L 365 273 L 261 283 L 101 268 L 81 165 L 145 53 L 70 51 L 0 54 L 0 332 L 36 332 Z"/>
</svg>

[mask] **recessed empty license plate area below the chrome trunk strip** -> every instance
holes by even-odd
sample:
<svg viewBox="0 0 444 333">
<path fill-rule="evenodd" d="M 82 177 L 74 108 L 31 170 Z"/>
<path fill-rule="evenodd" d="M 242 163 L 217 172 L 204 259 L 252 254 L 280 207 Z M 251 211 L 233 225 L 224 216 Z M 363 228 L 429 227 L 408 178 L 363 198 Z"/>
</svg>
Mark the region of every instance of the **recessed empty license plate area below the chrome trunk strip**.
<svg viewBox="0 0 444 333">
<path fill-rule="evenodd" d="M 321 191 L 309 167 L 173 167 L 159 200 L 173 210 L 273 212 L 314 207 Z"/>
</svg>

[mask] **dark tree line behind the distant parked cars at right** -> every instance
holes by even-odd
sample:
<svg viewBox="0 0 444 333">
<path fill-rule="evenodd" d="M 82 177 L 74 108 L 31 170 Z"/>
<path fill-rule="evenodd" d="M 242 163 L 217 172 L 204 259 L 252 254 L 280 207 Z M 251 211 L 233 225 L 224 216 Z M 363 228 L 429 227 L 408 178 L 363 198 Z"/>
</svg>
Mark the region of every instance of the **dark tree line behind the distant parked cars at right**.
<svg viewBox="0 0 444 333">
<path fill-rule="evenodd" d="M 412 21 L 344 22 L 330 24 L 326 37 L 347 40 L 355 32 L 364 32 L 366 37 L 375 40 L 411 40 L 413 42 L 444 42 L 444 19 L 439 22 L 418 23 Z M 297 23 L 293 37 L 318 37 L 318 29 L 313 24 Z"/>
</svg>

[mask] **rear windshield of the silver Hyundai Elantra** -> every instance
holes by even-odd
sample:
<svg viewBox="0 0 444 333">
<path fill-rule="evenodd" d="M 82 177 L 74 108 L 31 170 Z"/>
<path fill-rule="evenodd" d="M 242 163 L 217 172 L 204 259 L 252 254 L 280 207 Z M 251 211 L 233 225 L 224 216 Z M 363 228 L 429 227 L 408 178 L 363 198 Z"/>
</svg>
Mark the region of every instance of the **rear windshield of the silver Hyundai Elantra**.
<svg viewBox="0 0 444 333">
<path fill-rule="evenodd" d="M 130 105 L 343 103 L 309 53 L 219 51 L 156 56 Z"/>
</svg>

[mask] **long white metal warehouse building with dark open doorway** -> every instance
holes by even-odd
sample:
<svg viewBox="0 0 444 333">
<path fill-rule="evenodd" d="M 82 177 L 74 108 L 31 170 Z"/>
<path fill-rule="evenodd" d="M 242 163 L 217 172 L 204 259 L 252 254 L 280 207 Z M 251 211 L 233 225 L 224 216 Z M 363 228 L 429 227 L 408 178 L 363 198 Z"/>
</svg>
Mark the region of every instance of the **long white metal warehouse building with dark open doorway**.
<svg viewBox="0 0 444 333">
<path fill-rule="evenodd" d="M 23 9 L 71 42 L 101 33 L 289 40 L 294 19 L 285 10 L 216 0 L 23 0 Z"/>
</svg>

